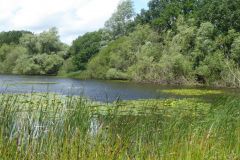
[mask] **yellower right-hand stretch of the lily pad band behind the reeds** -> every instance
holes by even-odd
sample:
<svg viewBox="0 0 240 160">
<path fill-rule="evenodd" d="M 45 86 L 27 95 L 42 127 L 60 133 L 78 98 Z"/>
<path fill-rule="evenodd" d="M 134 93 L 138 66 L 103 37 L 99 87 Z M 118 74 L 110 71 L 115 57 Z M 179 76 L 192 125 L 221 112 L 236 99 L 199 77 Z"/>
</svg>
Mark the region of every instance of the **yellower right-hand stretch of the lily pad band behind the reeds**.
<svg viewBox="0 0 240 160">
<path fill-rule="evenodd" d="M 93 107 L 93 111 L 98 114 L 119 114 L 119 115 L 151 115 L 162 112 L 174 112 L 180 110 L 202 111 L 209 110 L 211 104 L 194 98 L 185 99 L 159 99 L 159 100 L 131 100 L 121 101 L 108 105 Z"/>
</svg>

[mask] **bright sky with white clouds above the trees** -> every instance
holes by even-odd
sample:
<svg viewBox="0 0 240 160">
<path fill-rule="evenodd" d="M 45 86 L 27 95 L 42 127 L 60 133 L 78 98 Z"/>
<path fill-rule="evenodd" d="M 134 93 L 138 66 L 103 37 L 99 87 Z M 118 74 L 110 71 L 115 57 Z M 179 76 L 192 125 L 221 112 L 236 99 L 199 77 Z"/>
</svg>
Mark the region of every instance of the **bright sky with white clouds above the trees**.
<svg viewBox="0 0 240 160">
<path fill-rule="evenodd" d="M 104 26 L 121 0 L 0 0 L 0 32 L 57 27 L 63 42 Z M 149 0 L 134 0 L 138 13 Z"/>
</svg>

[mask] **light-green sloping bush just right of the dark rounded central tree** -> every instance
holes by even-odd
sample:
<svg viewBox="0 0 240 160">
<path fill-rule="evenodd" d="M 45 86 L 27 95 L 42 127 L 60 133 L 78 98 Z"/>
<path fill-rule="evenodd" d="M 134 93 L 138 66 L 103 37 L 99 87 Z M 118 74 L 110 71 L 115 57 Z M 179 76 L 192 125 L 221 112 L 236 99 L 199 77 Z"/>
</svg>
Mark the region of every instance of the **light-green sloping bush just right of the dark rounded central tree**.
<svg viewBox="0 0 240 160">
<path fill-rule="evenodd" d="M 129 68 L 137 63 L 138 56 L 143 54 L 146 46 L 152 47 L 153 52 L 146 52 L 157 59 L 157 43 L 159 37 L 149 26 L 137 26 L 135 31 L 129 36 L 118 38 L 103 48 L 96 57 L 94 57 L 87 70 L 91 77 L 126 79 Z M 143 47 L 145 46 L 145 47 Z M 119 77 L 118 77 L 119 76 Z"/>
</svg>

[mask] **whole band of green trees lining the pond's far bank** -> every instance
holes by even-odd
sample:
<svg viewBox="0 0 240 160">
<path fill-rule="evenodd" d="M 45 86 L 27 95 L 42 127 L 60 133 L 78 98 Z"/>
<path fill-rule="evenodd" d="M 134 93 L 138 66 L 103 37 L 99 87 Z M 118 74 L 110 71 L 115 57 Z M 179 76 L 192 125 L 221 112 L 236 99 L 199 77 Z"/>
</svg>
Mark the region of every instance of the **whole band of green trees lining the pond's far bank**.
<svg viewBox="0 0 240 160">
<path fill-rule="evenodd" d="M 133 5 L 122 1 L 103 28 L 69 47 L 56 29 L 21 31 L 11 43 L 1 33 L 1 72 L 240 85 L 240 0 L 151 0 L 140 14 Z"/>
</svg>

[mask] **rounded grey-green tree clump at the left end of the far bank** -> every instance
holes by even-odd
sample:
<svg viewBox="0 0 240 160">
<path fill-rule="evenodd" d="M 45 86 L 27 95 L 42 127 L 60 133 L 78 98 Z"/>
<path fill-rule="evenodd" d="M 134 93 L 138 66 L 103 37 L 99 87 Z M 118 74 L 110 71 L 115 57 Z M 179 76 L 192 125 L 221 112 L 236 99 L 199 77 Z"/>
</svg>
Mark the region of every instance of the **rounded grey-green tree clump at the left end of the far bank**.
<svg viewBox="0 0 240 160">
<path fill-rule="evenodd" d="M 1 73 L 56 75 L 67 55 L 56 28 L 38 35 L 3 32 L 0 40 Z"/>
</svg>

